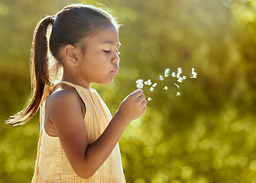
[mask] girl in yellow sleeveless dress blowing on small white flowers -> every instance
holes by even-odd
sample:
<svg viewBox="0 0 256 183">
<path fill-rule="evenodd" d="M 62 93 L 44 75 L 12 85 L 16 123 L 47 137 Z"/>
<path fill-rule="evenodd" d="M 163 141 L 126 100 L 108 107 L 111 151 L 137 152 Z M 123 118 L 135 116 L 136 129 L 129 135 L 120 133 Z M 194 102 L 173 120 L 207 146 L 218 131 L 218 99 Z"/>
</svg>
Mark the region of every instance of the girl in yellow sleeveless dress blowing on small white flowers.
<svg viewBox="0 0 256 183">
<path fill-rule="evenodd" d="M 33 97 L 8 119 L 13 126 L 24 124 L 41 106 L 32 182 L 125 182 L 118 140 L 131 120 L 144 115 L 147 101 L 141 90 L 131 92 L 112 117 L 90 88 L 92 82 L 108 85 L 118 74 L 119 47 L 117 21 L 92 5 L 67 6 L 37 24 L 31 50 Z M 51 56 L 63 68 L 56 85 Z"/>
</svg>

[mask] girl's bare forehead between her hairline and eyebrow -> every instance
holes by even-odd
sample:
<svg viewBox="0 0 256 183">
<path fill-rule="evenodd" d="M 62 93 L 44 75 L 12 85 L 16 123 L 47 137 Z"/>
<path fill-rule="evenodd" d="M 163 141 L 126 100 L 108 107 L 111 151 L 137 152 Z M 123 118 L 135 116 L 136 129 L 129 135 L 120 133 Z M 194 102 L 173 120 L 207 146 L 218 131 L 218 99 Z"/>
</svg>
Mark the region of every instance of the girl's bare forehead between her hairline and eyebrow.
<svg viewBox="0 0 256 183">
<path fill-rule="evenodd" d="M 118 38 L 118 30 L 114 26 L 99 29 L 96 34 L 87 41 L 88 43 L 112 44 L 117 47 L 121 45 Z"/>
</svg>

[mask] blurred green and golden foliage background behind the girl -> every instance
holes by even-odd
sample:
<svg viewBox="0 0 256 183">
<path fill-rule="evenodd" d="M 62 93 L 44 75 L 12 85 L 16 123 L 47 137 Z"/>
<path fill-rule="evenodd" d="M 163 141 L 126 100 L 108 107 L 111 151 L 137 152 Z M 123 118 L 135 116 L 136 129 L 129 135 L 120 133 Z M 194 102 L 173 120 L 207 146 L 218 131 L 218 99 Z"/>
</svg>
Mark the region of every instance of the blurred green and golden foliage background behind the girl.
<svg viewBox="0 0 256 183">
<path fill-rule="evenodd" d="M 38 114 L 22 127 L 5 124 L 28 104 L 34 25 L 76 2 L 0 1 L 0 182 L 30 182 L 34 172 Z M 111 85 L 92 87 L 114 114 L 137 79 L 159 83 L 144 88 L 153 100 L 120 140 L 127 182 L 256 182 L 256 1 L 99 2 L 124 24 L 121 69 Z M 180 88 L 158 80 L 178 67 L 198 78 Z"/>
</svg>

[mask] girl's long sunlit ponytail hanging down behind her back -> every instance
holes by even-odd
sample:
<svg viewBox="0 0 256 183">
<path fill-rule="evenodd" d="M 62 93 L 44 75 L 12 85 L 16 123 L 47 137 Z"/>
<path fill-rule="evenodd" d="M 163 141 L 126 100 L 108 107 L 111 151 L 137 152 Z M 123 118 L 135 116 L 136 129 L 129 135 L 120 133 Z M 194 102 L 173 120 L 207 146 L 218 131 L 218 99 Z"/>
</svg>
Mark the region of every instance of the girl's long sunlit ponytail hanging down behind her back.
<svg viewBox="0 0 256 183">
<path fill-rule="evenodd" d="M 51 85 L 48 71 L 48 43 L 47 43 L 47 27 L 53 24 L 53 16 L 47 16 L 37 23 L 34 29 L 34 37 L 31 47 L 31 101 L 26 108 L 11 116 L 6 120 L 6 123 L 11 126 L 25 124 L 30 120 L 41 104 L 44 94 L 44 89 Z"/>
</svg>

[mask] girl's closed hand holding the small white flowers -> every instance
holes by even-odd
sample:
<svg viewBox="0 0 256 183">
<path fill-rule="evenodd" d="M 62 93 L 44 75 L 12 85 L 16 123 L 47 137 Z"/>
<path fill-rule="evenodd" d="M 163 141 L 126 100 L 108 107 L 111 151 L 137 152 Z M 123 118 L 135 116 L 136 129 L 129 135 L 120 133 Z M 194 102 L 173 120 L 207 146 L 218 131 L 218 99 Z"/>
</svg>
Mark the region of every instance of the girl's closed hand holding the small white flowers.
<svg viewBox="0 0 256 183">
<path fill-rule="evenodd" d="M 142 117 L 147 111 L 147 100 L 141 89 L 131 92 L 120 104 L 117 113 L 128 120 L 136 120 Z"/>
</svg>

